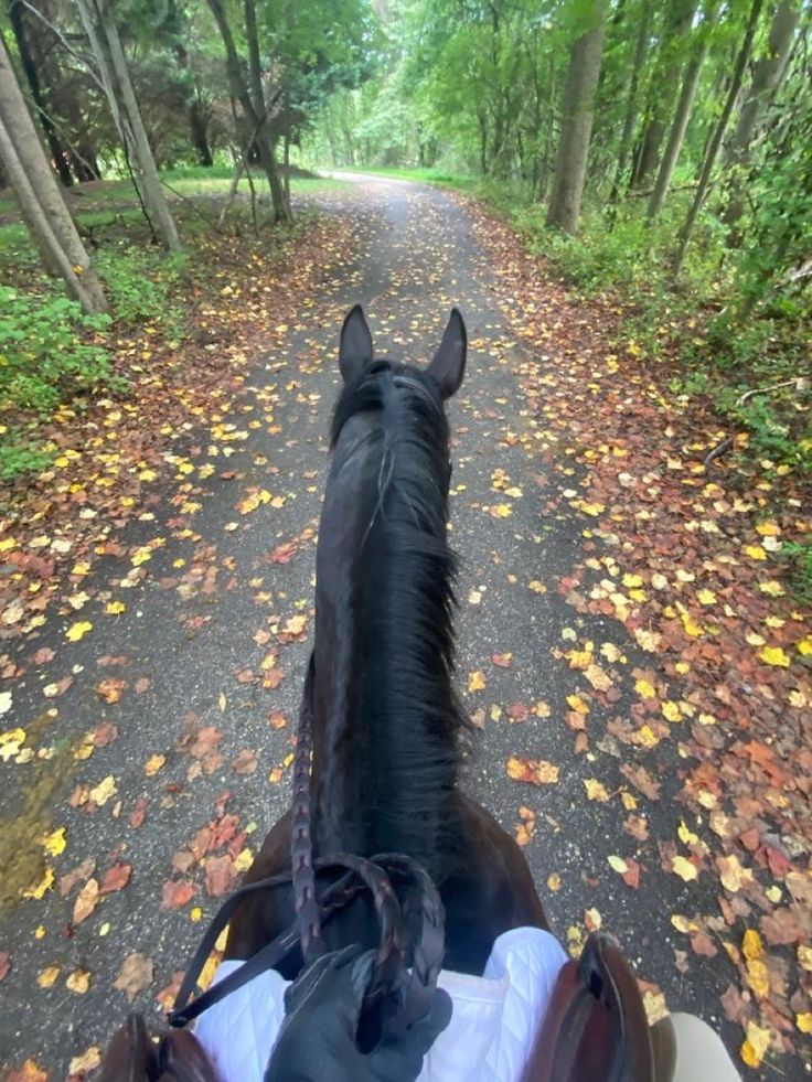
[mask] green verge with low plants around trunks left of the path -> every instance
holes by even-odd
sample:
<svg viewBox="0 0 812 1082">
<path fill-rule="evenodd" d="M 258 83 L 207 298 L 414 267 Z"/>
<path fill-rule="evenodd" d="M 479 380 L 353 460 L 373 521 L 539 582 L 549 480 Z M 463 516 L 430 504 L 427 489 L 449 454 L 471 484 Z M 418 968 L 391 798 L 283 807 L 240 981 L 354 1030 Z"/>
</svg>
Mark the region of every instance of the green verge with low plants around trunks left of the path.
<svg viewBox="0 0 812 1082">
<path fill-rule="evenodd" d="M 267 185 L 258 178 L 260 232 L 255 236 L 242 200 L 224 227 L 224 246 L 214 223 L 231 170 L 174 171 L 167 179 L 184 196 L 173 202 L 184 243 L 184 253 L 174 257 L 152 243 L 129 181 L 83 185 L 68 194 L 104 282 L 109 315 L 83 315 L 61 285 L 42 274 L 25 227 L 13 221 L 0 225 L 0 481 L 14 482 L 47 467 L 58 453 L 54 425 L 65 410 L 81 415 L 104 396 L 127 399 L 136 343 L 146 360 L 156 351 L 186 347 L 195 312 L 217 285 L 214 263 L 236 274 L 225 267 L 228 251 L 255 251 L 273 260 L 312 217 L 306 211 L 292 226 L 269 226 Z M 243 185 L 247 191 L 247 180 Z M 319 176 L 291 179 L 295 195 L 341 186 Z M 10 204 L 3 214 L 11 216 Z M 242 265 L 243 274 L 248 266 Z"/>
</svg>

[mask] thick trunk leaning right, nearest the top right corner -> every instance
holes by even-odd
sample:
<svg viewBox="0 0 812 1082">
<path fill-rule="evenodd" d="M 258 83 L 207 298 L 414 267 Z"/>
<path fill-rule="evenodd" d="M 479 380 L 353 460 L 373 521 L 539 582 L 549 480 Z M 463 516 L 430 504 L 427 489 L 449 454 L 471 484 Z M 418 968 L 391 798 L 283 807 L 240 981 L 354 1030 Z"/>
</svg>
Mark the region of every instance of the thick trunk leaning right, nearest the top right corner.
<svg viewBox="0 0 812 1082">
<path fill-rule="evenodd" d="M 761 126 L 767 106 L 783 78 L 800 17 L 801 10 L 794 0 L 781 0 L 770 26 L 767 54 L 754 64 L 750 90 L 739 114 L 736 130 L 727 150 L 727 164 L 733 172 L 728 204 L 722 221 L 730 226 L 728 243 L 731 246 L 740 239 L 737 231 L 733 227 L 745 211 L 745 197 L 741 188 L 744 173 L 750 161 L 750 148 Z"/>
</svg>

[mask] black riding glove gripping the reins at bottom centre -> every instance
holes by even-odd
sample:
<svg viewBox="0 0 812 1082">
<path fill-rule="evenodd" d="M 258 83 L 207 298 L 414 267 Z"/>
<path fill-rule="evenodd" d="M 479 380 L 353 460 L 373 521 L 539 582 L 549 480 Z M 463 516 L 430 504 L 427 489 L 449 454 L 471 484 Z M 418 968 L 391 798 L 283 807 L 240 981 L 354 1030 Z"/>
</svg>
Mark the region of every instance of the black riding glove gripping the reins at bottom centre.
<svg viewBox="0 0 812 1082">
<path fill-rule="evenodd" d="M 414 1082 L 451 1020 L 451 999 L 438 988 L 424 1019 L 364 1054 L 355 1033 L 374 956 L 350 946 L 322 955 L 299 975 L 285 994 L 285 1021 L 265 1082 Z"/>
</svg>

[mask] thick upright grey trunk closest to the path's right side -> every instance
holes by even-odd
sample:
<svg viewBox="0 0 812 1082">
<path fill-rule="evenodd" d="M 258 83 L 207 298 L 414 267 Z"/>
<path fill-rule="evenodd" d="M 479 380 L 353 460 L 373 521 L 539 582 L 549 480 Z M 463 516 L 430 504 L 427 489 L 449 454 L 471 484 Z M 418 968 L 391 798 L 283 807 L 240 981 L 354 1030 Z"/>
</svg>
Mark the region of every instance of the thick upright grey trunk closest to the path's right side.
<svg viewBox="0 0 812 1082">
<path fill-rule="evenodd" d="M 591 0 L 590 25 L 573 43 L 564 87 L 562 132 L 558 141 L 547 225 L 565 233 L 578 232 L 580 203 L 586 181 L 592 107 L 600 76 L 606 23 L 603 0 Z"/>
</svg>

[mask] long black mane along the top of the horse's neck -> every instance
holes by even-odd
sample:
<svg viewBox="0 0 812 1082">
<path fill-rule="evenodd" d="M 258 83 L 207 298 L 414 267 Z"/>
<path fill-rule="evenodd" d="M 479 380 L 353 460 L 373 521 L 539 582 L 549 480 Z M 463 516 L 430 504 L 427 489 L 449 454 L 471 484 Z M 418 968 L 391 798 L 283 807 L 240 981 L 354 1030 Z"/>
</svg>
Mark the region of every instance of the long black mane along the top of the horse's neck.
<svg viewBox="0 0 812 1082">
<path fill-rule="evenodd" d="M 333 447 L 344 424 L 368 409 L 381 410 L 371 437 L 381 457 L 354 576 L 349 708 L 365 763 L 367 836 L 378 851 L 407 853 L 436 875 L 442 805 L 466 728 L 451 685 L 457 558 L 446 538 L 448 422 L 430 376 L 376 362 L 344 387 Z"/>
</svg>

